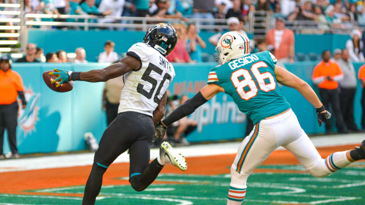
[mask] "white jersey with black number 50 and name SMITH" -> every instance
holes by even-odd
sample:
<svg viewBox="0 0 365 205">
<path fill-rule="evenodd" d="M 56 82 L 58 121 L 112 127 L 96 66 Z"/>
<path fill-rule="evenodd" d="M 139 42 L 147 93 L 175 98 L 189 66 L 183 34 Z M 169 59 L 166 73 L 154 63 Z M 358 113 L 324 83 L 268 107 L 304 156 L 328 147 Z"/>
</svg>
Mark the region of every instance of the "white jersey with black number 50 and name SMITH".
<svg viewBox="0 0 365 205">
<path fill-rule="evenodd" d="M 175 76 L 171 63 L 157 50 L 145 43 L 136 43 L 127 52 L 141 67 L 124 74 L 120 94 L 120 112 L 139 112 L 153 116 L 161 97 Z"/>
</svg>

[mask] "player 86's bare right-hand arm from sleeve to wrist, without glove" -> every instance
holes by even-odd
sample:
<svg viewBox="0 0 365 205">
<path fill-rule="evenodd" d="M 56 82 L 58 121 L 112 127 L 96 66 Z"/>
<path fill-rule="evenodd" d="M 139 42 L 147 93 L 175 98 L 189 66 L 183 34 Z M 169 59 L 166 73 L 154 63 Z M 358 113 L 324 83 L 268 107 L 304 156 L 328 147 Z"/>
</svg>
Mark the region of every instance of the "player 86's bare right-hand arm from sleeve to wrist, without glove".
<svg viewBox="0 0 365 205">
<path fill-rule="evenodd" d="M 300 94 L 315 108 L 322 107 L 322 102 L 307 82 L 301 80 L 299 77 L 280 66 L 275 66 L 275 76 L 277 82 L 289 88 L 298 90 Z"/>
</svg>

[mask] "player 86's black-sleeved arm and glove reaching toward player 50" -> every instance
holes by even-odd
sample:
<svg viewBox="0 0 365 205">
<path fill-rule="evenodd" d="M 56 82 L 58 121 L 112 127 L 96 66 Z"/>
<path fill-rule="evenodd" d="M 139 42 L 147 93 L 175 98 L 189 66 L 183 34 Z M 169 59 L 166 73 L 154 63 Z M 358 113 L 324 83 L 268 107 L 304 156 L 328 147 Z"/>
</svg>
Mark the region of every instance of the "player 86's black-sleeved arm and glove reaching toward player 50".
<svg viewBox="0 0 365 205">
<path fill-rule="evenodd" d="M 204 88 L 202 88 L 199 93 L 195 94 L 194 97 L 184 102 L 184 104 L 176 108 L 169 116 L 167 116 L 155 126 L 154 139 L 158 138 L 158 142 L 161 142 L 161 140 L 164 138 L 166 128 L 170 124 L 190 115 L 195 111 L 196 108 L 198 108 L 200 105 L 203 105 L 219 92 L 224 92 L 224 89 L 219 85 L 208 84 L 204 86 Z"/>
</svg>

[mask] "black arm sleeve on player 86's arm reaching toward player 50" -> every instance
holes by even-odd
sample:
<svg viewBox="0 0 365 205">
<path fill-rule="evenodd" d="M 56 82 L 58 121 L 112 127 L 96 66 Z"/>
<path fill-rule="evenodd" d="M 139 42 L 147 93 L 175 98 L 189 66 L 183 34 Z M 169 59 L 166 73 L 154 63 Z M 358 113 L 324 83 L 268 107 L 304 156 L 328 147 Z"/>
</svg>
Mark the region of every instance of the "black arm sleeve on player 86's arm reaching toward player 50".
<svg viewBox="0 0 365 205">
<path fill-rule="evenodd" d="M 174 110 L 168 117 L 166 117 L 162 122 L 169 126 L 170 124 L 180 120 L 181 118 L 190 115 L 198 108 L 203 105 L 208 100 L 204 98 L 201 92 L 196 93 L 194 97 L 190 98 L 184 104 L 180 105 L 176 110 Z"/>
</svg>

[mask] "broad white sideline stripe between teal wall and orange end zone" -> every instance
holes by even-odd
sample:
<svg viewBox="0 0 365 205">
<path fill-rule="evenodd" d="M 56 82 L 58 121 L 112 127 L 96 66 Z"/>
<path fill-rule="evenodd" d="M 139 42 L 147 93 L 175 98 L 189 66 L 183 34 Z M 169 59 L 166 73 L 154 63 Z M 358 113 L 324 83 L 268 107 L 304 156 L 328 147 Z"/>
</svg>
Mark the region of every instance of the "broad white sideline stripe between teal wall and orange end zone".
<svg viewBox="0 0 365 205">
<path fill-rule="evenodd" d="M 347 134 L 347 135 L 330 135 L 317 136 L 310 138 L 316 147 L 340 146 L 346 144 L 360 144 L 364 140 L 364 134 Z M 345 139 L 345 140 L 344 140 Z M 214 144 L 200 144 L 187 147 L 174 148 L 177 152 L 183 154 L 185 157 L 195 156 L 211 156 L 222 154 L 236 154 L 241 142 L 228 143 L 214 143 Z M 283 147 L 277 150 L 283 150 Z M 159 153 L 158 148 L 151 149 L 151 159 L 157 157 Z M 0 160 L 0 173 L 9 171 L 24 171 L 37 169 L 50 169 L 61 167 L 74 167 L 92 165 L 94 153 L 82 154 L 65 154 L 57 156 L 42 156 L 35 158 L 20 158 L 10 160 Z M 120 155 L 116 163 L 129 162 L 129 156 L 125 152 Z"/>
</svg>

